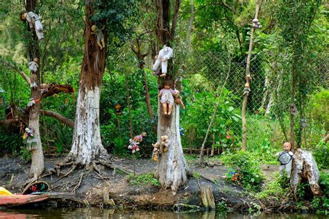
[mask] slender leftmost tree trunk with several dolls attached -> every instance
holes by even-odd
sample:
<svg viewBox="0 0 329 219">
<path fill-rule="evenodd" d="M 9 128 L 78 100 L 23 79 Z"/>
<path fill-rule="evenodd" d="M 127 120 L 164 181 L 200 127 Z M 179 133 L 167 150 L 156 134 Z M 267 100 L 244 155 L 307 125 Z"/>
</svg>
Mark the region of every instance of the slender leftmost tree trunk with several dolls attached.
<svg viewBox="0 0 329 219">
<path fill-rule="evenodd" d="M 35 6 L 37 4 L 36 0 L 27 0 L 26 1 L 26 10 L 28 12 L 35 11 Z M 33 43 L 28 44 L 28 62 L 31 62 L 34 58 L 38 58 L 40 61 L 40 51 L 37 35 L 34 28 L 28 26 L 28 31 L 33 31 Z M 39 62 L 40 63 L 40 62 Z M 37 88 L 31 88 L 31 98 L 34 100 L 40 100 L 40 67 L 37 68 L 37 72 L 31 71 L 30 76 L 31 82 L 37 83 Z M 40 114 L 40 102 L 35 103 L 30 109 L 30 115 L 28 119 L 28 126 L 33 128 L 34 137 L 37 140 L 37 145 L 33 148 L 31 154 L 31 168 L 30 168 L 30 177 L 37 179 L 39 175 L 44 171 L 44 154 L 42 151 L 42 143 L 40 139 L 40 127 L 39 127 L 39 114 Z"/>
</svg>

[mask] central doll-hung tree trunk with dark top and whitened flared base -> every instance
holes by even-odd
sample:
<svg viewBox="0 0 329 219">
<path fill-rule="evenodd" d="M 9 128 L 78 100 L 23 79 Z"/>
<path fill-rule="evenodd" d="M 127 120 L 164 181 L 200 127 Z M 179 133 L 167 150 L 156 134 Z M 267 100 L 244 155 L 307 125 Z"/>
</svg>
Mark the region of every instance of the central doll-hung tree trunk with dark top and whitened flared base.
<svg viewBox="0 0 329 219">
<path fill-rule="evenodd" d="M 174 40 L 180 0 L 175 1 L 174 17 L 169 25 L 170 3 L 169 0 L 156 1 L 157 24 L 156 35 L 160 44 L 163 46 Z M 174 87 L 174 73 L 172 72 L 171 62 L 169 62 L 167 80 L 170 80 L 171 87 Z M 158 87 L 162 87 L 162 81 L 158 80 Z M 178 187 L 187 182 L 188 167 L 183 156 L 183 148 L 180 142 L 179 133 L 179 105 L 174 105 L 171 116 L 165 116 L 160 101 L 158 102 L 158 141 L 163 135 L 169 137 L 169 150 L 163 152 L 158 161 L 155 170 L 155 177 L 158 177 L 162 187 L 171 189 L 176 193 Z"/>
</svg>

